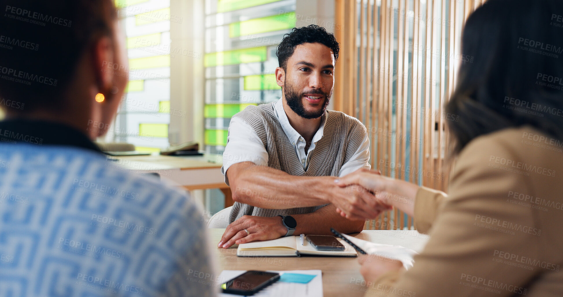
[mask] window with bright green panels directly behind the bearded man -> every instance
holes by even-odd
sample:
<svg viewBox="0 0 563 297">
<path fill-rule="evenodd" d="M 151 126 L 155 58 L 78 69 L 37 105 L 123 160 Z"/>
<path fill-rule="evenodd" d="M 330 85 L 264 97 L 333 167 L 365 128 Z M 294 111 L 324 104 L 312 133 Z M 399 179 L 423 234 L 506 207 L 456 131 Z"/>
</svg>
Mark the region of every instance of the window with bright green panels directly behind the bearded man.
<svg viewBox="0 0 563 297">
<path fill-rule="evenodd" d="M 282 96 L 275 52 L 295 9 L 295 0 L 205 0 L 206 152 L 224 152 L 235 113 Z"/>
</svg>

